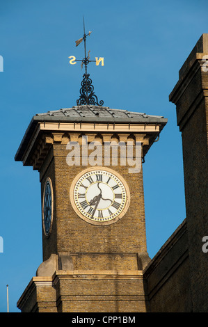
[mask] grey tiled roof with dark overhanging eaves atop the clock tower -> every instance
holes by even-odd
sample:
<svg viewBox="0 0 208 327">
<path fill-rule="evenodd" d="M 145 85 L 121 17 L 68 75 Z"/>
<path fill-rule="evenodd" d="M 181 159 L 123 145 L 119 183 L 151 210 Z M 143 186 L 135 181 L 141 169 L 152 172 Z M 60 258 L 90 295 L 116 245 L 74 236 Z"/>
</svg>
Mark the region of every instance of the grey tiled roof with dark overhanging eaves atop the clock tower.
<svg viewBox="0 0 208 327">
<path fill-rule="evenodd" d="M 15 161 L 22 161 L 24 153 L 28 148 L 31 138 L 38 129 L 40 123 L 106 123 L 106 124 L 129 124 L 129 125 L 159 125 L 159 133 L 167 123 L 167 119 L 159 115 L 146 115 L 123 109 L 110 109 L 107 106 L 73 106 L 72 108 L 47 111 L 47 113 L 37 113 L 31 119 L 29 127 L 26 129 L 22 142 L 15 155 Z M 157 132 L 157 134 L 159 134 Z M 155 136 L 157 138 L 157 136 Z"/>
</svg>

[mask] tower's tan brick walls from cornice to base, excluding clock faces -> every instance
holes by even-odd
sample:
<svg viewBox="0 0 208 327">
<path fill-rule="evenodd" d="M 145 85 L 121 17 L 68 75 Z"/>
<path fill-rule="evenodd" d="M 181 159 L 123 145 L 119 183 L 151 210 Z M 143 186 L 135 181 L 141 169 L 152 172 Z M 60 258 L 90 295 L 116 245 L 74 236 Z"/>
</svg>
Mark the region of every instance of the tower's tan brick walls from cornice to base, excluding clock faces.
<svg viewBox="0 0 208 327">
<path fill-rule="evenodd" d="M 146 248 L 142 166 L 139 173 L 129 173 L 129 166 L 121 166 L 120 159 L 118 166 L 112 166 L 112 156 L 115 156 L 115 151 L 112 150 L 111 166 L 105 168 L 115 170 L 127 182 L 131 195 L 130 205 L 126 214 L 116 223 L 93 225 L 83 221 L 74 212 L 70 202 L 72 182 L 87 166 L 67 165 L 69 151 L 66 145 L 69 137 L 66 134 L 57 132 L 53 138 L 47 135 L 45 142 L 50 147 L 47 147 L 47 155 L 40 167 L 40 182 L 43 196 L 45 182 L 48 177 L 51 180 L 54 216 L 49 236 L 42 230 L 43 263 L 37 273 L 38 278 L 47 276 L 45 271 L 54 273 L 54 277 L 52 289 L 49 285 L 38 285 L 34 281 L 35 296 L 27 297 L 29 291 L 25 292 L 24 301 L 19 302 L 19 308 L 22 311 L 35 312 L 148 311 L 146 282 L 142 273 L 150 260 Z M 73 141 L 79 141 L 80 135 L 74 134 L 71 137 Z M 122 134 L 122 139 L 127 139 L 128 135 Z M 142 140 L 144 136 L 145 134 L 140 136 Z M 145 144 L 148 144 L 148 137 L 147 134 Z M 92 139 L 92 135 L 89 134 L 89 138 Z M 89 154 L 90 150 L 88 156 Z M 106 153 L 103 147 L 103 158 L 104 155 Z M 36 164 L 40 165 L 40 158 Z M 91 168 L 90 165 L 88 167 Z M 53 259 L 51 255 L 56 257 Z M 65 269 L 72 271 L 67 273 Z M 76 271 L 81 273 L 76 274 Z M 32 289 L 32 285 L 29 289 Z"/>
</svg>

